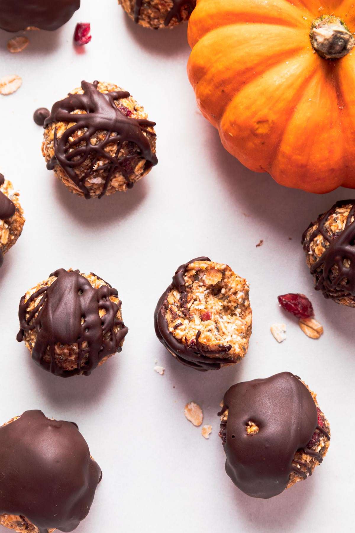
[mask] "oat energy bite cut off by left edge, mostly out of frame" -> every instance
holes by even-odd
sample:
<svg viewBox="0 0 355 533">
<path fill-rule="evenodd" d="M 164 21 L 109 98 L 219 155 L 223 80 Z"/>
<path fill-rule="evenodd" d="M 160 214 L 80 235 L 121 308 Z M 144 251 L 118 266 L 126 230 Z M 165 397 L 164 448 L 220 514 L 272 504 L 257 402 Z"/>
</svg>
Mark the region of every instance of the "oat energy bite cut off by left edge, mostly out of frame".
<svg viewBox="0 0 355 533">
<path fill-rule="evenodd" d="M 0 174 L 0 266 L 4 262 L 4 254 L 22 233 L 24 217 L 19 196 L 11 181 Z"/>
</svg>

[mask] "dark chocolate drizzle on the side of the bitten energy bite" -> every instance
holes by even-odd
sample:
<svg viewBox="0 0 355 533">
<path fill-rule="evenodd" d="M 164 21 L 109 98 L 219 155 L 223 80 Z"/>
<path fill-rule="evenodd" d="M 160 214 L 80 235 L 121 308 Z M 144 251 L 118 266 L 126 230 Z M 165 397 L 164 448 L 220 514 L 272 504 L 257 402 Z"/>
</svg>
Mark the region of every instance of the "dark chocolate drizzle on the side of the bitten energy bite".
<svg viewBox="0 0 355 533">
<path fill-rule="evenodd" d="M 161 295 L 158 304 L 156 305 L 154 311 L 154 327 L 155 334 L 159 338 L 159 341 L 167 348 L 167 350 L 175 354 L 176 359 L 180 361 L 180 363 L 195 368 L 196 370 L 200 370 L 201 372 L 205 372 L 206 370 L 218 370 L 221 368 L 221 365 L 226 364 L 228 362 L 230 363 L 230 359 L 218 356 L 222 356 L 224 353 L 229 352 L 229 350 L 232 349 L 232 346 L 230 344 L 226 346 L 221 344 L 218 347 L 218 350 L 207 350 L 199 342 L 199 338 L 201 336 L 200 331 L 196 334 L 195 345 L 192 346 L 191 344 L 187 344 L 186 337 L 185 344 L 183 344 L 178 341 L 177 338 L 175 338 L 174 335 L 172 335 L 172 333 L 169 331 L 168 321 L 165 318 L 167 297 L 170 291 L 174 288 L 176 288 L 180 293 L 180 303 L 182 306 L 182 311 L 185 316 L 188 317 L 188 310 L 186 306 L 187 291 L 185 286 L 184 274 L 186 272 L 187 266 L 191 263 L 194 263 L 195 261 L 211 260 L 209 259 L 209 257 L 196 257 L 195 259 L 192 259 L 191 261 L 188 261 L 187 263 L 179 266 L 179 268 L 175 272 L 175 276 L 172 278 L 172 283 L 169 285 L 167 290 Z M 208 357 L 207 353 L 210 354 L 210 356 L 213 355 L 216 357 Z"/>
</svg>

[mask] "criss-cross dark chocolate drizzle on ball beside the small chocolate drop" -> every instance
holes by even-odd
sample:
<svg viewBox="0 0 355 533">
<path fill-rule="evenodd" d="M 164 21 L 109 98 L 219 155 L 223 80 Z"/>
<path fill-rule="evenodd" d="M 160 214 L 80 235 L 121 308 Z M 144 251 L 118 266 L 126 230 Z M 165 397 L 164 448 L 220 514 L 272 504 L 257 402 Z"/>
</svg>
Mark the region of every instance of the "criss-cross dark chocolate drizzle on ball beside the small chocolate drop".
<svg viewBox="0 0 355 533">
<path fill-rule="evenodd" d="M 81 82 L 84 94 L 69 94 L 64 100 L 56 102 L 51 114 L 44 121 L 44 127 L 53 122 L 74 122 L 64 131 L 61 138 L 58 139 L 56 131 L 54 132 L 54 156 L 47 163 L 47 168 L 52 170 L 55 165 L 60 165 L 68 174 L 68 177 L 84 193 L 85 198 L 90 198 L 90 193 L 85 186 L 85 180 L 93 172 L 94 166 L 99 157 L 107 159 L 108 163 L 100 166 L 100 172 L 106 172 L 103 190 L 100 194 L 104 196 L 112 176 L 119 171 L 125 176 L 127 187 L 133 187 L 129 180 L 129 172 L 126 165 L 133 158 L 142 157 L 146 160 L 145 171 L 158 163 L 156 155 L 153 154 L 148 139 L 143 132 L 155 135 L 148 131 L 147 127 L 155 126 L 155 122 L 141 118 L 129 118 L 116 106 L 115 101 L 122 98 L 128 98 L 130 94 L 126 91 L 112 91 L 110 93 L 101 93 L 97 89 L 98 81 L 94 83 Z M 86 111 L 85 113 L 73 113 L 77 109 Z M 78 130 L 85 128 L 85 133 L 78 139 L 72 141 L 69 138 Z M 90 138 L 98 131 L 103 130 L 106 133 L 105 139 L 94 146 L 90 143 Z M 85 146 L 81 146 L 82 143 Z M 139 148 L 140 153 L 127 155 L 119 159 L 119 152 L 122 144 L 132 142 Z M 117 144 L 115 156 L 110 156 L 105 148 L 112 143 Z M 82 165 L 86 159 L 92 156 L 92 161 L 84 177 L 79 179 L 75 173 L 75 168 Z"/>
</svg>

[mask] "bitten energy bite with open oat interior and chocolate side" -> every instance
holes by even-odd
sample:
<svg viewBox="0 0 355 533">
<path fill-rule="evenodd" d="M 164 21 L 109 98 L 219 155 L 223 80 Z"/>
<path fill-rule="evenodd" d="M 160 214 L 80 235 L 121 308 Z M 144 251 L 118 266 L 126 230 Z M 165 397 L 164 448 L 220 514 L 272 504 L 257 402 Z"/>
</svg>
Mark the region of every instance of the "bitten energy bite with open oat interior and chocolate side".
<svg viewBox="0 0 355 533">
<path fill-rule="evenodd" d="M 178 361 L 196 370 L 239 362 L 249 346 L 249 285 L 223 263 L 197 257 L 179 266 L 154 313 L 155 333 Z"/>
</svg>

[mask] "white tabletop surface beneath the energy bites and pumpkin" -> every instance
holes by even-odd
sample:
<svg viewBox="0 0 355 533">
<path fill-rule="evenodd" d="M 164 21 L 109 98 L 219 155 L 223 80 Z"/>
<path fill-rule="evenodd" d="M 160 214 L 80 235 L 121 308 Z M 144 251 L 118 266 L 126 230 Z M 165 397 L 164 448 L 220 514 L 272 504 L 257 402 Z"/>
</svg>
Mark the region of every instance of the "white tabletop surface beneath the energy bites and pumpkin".
<svg viewBox="0 0 355 533">
<path fill-rule="evenodd" d="M 92 24 L 92 42 L 81 53 L 72 46 L 78 21 Z M 103 481 L 78 533 L 350 529 L 354 310 L 313 291 L 300 239 L 310 220 L 355 193 L 286 189 L 227 154 L 187 80 L 186 26 L 149 31 L 135 27 L 115 0 L 85 0 L 60 30 L 28 35 L 27 50 L 15 55 L 6 50 L 10 34 L 0 33 L 0 75 L 23 78 L 18 92 L 0 96 L 0 171 L 20 190 L 27 219 L 1 270 L 0 422 L 38 408 L 79 424 Z M 96 78 L 130 91 L 156 121 L 159 164 L 126 194 L 88 201 L 46 170 L 32 114 Z M 153 328 L 156 301 L 175 269 L 199 255 L 228 263 L 250 282 L 249 352 L 218 372 L 178 364 Z M 129 333 L 121 354 L 92 376 L 61 379 L 37 367 L 15 336 L 21 295 L 70 266 L 97 272 L 118 289 Z M 286 292 L 311 297 L 324 326 L 320 340 L 303 335 L 279 309 L 276 297 Z M 280 345 L 269 332 L 274 322 L 287 325 Z M 164 376 L 154 372 L 155 359 Z M 331 447 L 306 482 L 271 500 L 252 499 L 224 472 L 219 402 L 238 381 L 284 370 L 318 393 Z M 208 441 L 184 417 L 191 400 L 213 426 Z"/>
</svg>

